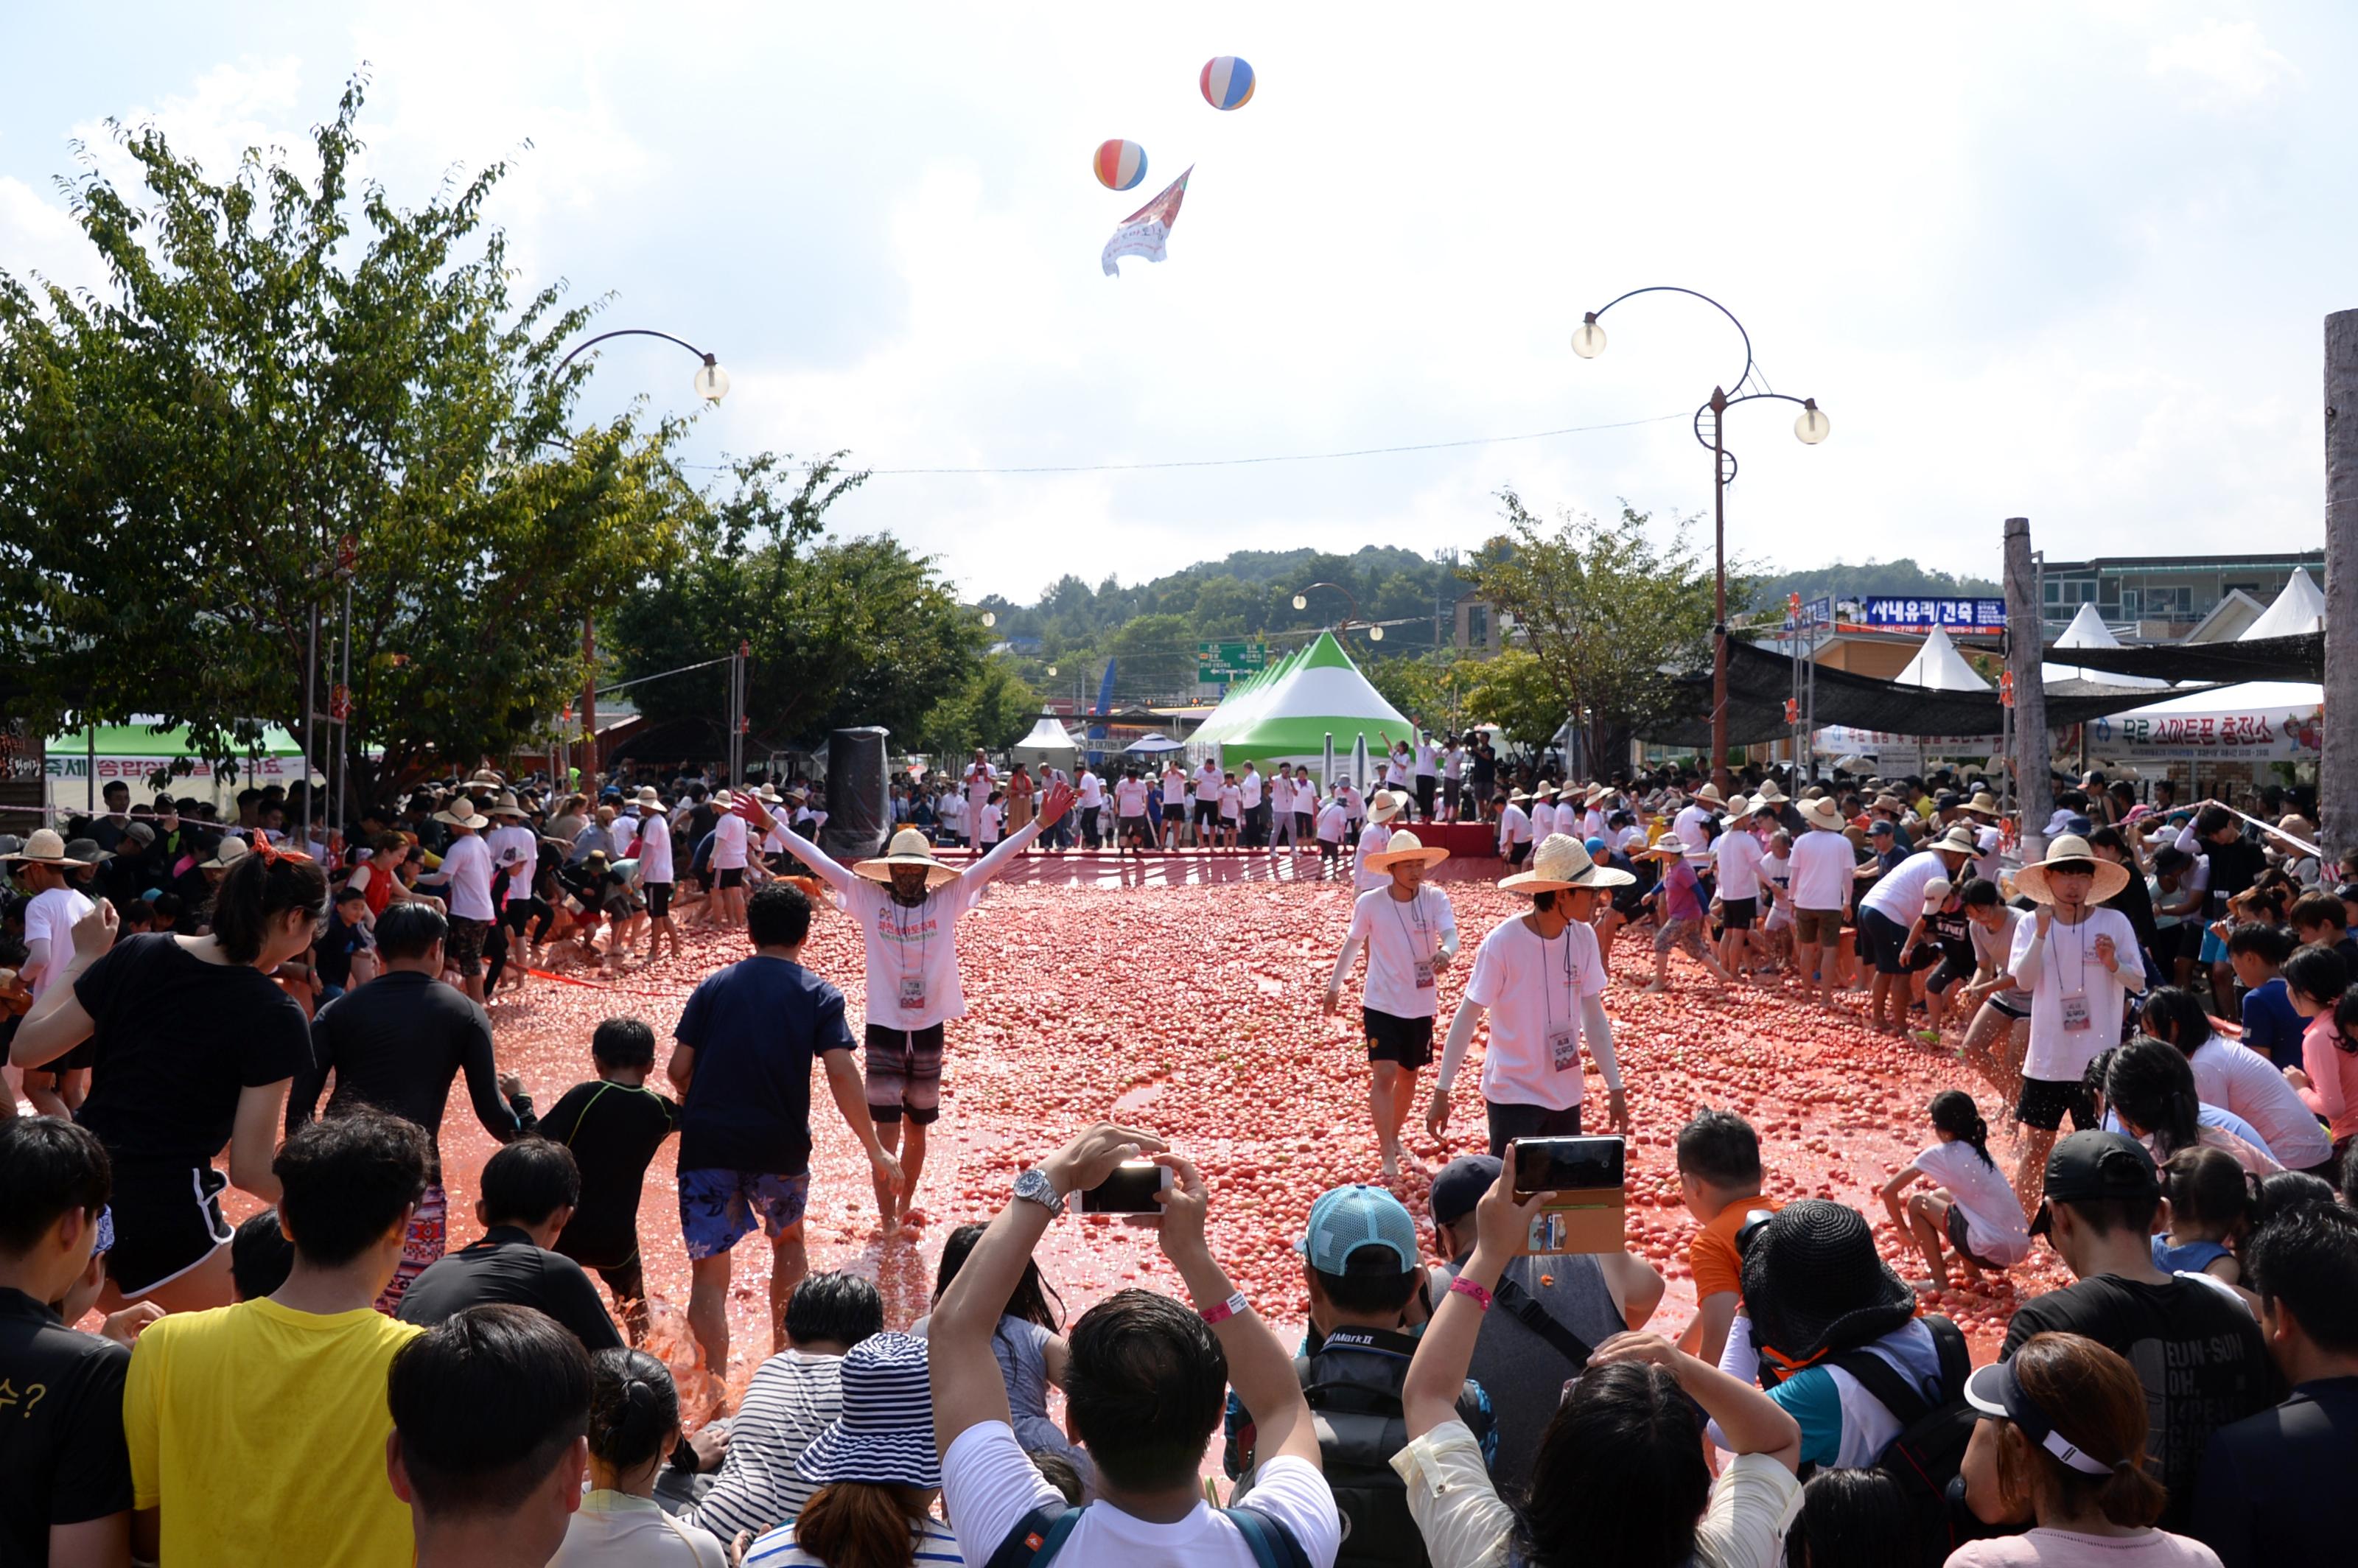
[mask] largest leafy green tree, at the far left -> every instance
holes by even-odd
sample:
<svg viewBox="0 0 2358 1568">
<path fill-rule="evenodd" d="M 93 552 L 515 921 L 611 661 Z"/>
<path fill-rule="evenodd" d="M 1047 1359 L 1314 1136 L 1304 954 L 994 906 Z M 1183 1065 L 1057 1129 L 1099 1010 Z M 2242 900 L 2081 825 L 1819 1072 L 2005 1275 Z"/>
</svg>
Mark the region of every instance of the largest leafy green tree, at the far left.
<svg viewBox="0 0 2358 1568">
<path fill-rule="evenodd" d="M 248 151 L 212 182 L 116 127 L 144 205 L 97 167 L 61 182 L 108 288 L 0 274 L 0 665 L 26 719 L 149 712 L 231 759 L 302 724 L 349 582 L 368 792 L 535 740 L 580 689 L 582 615 L 672 559 L 677 427 L 571 429 L 590 365 L 554 365 L 592 307 L 512 295 L 483 219 L 507 165 L 415 210 L 356 186 L 363 90 L 314 132 L 316 174 Z"/>
</svg>

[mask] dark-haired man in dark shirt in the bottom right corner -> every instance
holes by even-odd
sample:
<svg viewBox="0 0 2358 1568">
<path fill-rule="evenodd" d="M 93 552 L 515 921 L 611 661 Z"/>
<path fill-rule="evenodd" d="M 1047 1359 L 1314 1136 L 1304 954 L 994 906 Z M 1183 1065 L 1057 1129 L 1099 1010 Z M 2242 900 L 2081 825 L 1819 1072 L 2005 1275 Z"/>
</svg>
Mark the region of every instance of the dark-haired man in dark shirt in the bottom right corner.
<svg viewBox="0 0 2358 1568">
<path fill-rule="evenodd" d="M 2358 1214 L 2301 1205 L 2264 1226 L 2247 1259 L 2292 1398 L 2212 1434 L 2193 1535 L 2226 1568 L 2339 1561 L 2358 1474 Z"/>
</svg>

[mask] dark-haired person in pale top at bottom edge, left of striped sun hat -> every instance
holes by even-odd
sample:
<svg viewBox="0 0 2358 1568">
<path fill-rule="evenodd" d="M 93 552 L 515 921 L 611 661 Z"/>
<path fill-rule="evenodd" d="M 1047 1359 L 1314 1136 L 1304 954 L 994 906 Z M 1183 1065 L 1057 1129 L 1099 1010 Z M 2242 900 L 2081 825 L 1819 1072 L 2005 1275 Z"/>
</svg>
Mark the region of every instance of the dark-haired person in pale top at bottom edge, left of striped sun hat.
<svg viewBox="0 0 2358 1568">
<path fill-rule="evenodd" d="M 592 1356 L 590 1490 L 566 1523 L 566 1544 L 549 1568 L 726 1568 L 729 1549 L 717 1535 L 679 1523 L 656 1502 L 656 1476 L 677 1445 L 679 1389 L 672 1370 L 646 1351 Z"/>
</svg>

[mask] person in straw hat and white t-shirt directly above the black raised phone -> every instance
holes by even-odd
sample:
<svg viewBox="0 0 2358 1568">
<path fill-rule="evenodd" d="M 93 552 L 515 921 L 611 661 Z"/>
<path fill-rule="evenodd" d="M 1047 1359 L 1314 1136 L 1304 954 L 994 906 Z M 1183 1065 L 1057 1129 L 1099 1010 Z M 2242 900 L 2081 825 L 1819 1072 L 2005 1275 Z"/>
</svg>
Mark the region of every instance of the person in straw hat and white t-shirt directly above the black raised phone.
<svg viewBox="0 0 2358 1568">
<path fill-rule="evenodd" d="M 1450 1019 L 1441 1075 L 1424 1111 L 1434 1139 L 1448 1132 L 1450 1089 L 1483 1019 L 1490 1021 L 1490 1049 L 1481 1094 L 1493 1155 L 1504 1155 L 1514 1139 L 1580 1137 L 1587 1092 L 1582 1054 L 1596 1059 L 1606 1080 L 1613 1129 L 1629 1132 L 1629 1101 L 1603 1002 L 1606 962 L 1589 927 L 1599 896 L 1629 882 L 1629 872 L 1596 865 L 1580 839 L 1561 832 L 1540 844 L 1530 870 L 1500 882 L 1507 891 L 1530 894 L 1530 913 L 1502 922 L 1474 953 L 1474 976 Z"/>
</svg>

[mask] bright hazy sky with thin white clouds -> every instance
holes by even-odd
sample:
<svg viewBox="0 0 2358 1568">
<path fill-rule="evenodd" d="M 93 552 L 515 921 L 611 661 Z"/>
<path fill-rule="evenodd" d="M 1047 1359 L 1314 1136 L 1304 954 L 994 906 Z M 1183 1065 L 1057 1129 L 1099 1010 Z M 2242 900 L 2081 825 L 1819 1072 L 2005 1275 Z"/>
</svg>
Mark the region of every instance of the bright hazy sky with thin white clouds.
<svg viewBox="0 0 2358 1568">
<path fill-rule="evenodd" d="M 1170 12 L 1170 14 L 1158 14 Z M 118 5 L 9 21 L 0 269 L 101 285 L 57 189 L 106 120 L 208 170 L 302 151 L 370 75 L 403 205 L 509 158 L 519 283 L 731 375 L 684 460 L 849 448 L 832 514 L 969 597 L 1231 549 L 1474 549 L 1540 512 L 1710 526 L 1688 420 L 1728 415 L 1728 549 L 2313 549 L 2323 316 L 2358 307 L 2358 7 L 1981 5 Z M 1198 92 L 1252 61 L 1250 104 Z M 2341 61 L 2337 66 L 2334 61 Z M 2344 85 L 2346 90 L 2346 85 Z M 1148 156 L 1096 184 L 1099 141 Z M 1099 252 L 1193 165 L 1170 259 Z M 582 413 L 693 413 L 696 361 L 599 349 Z M 1535 431 L 1542 439 L 1500 441 Z M 1464 443 L 1309 462 L 1118 469 Z M 891 469 L 1096 467 L 896 474 Z"/>
</svg>

